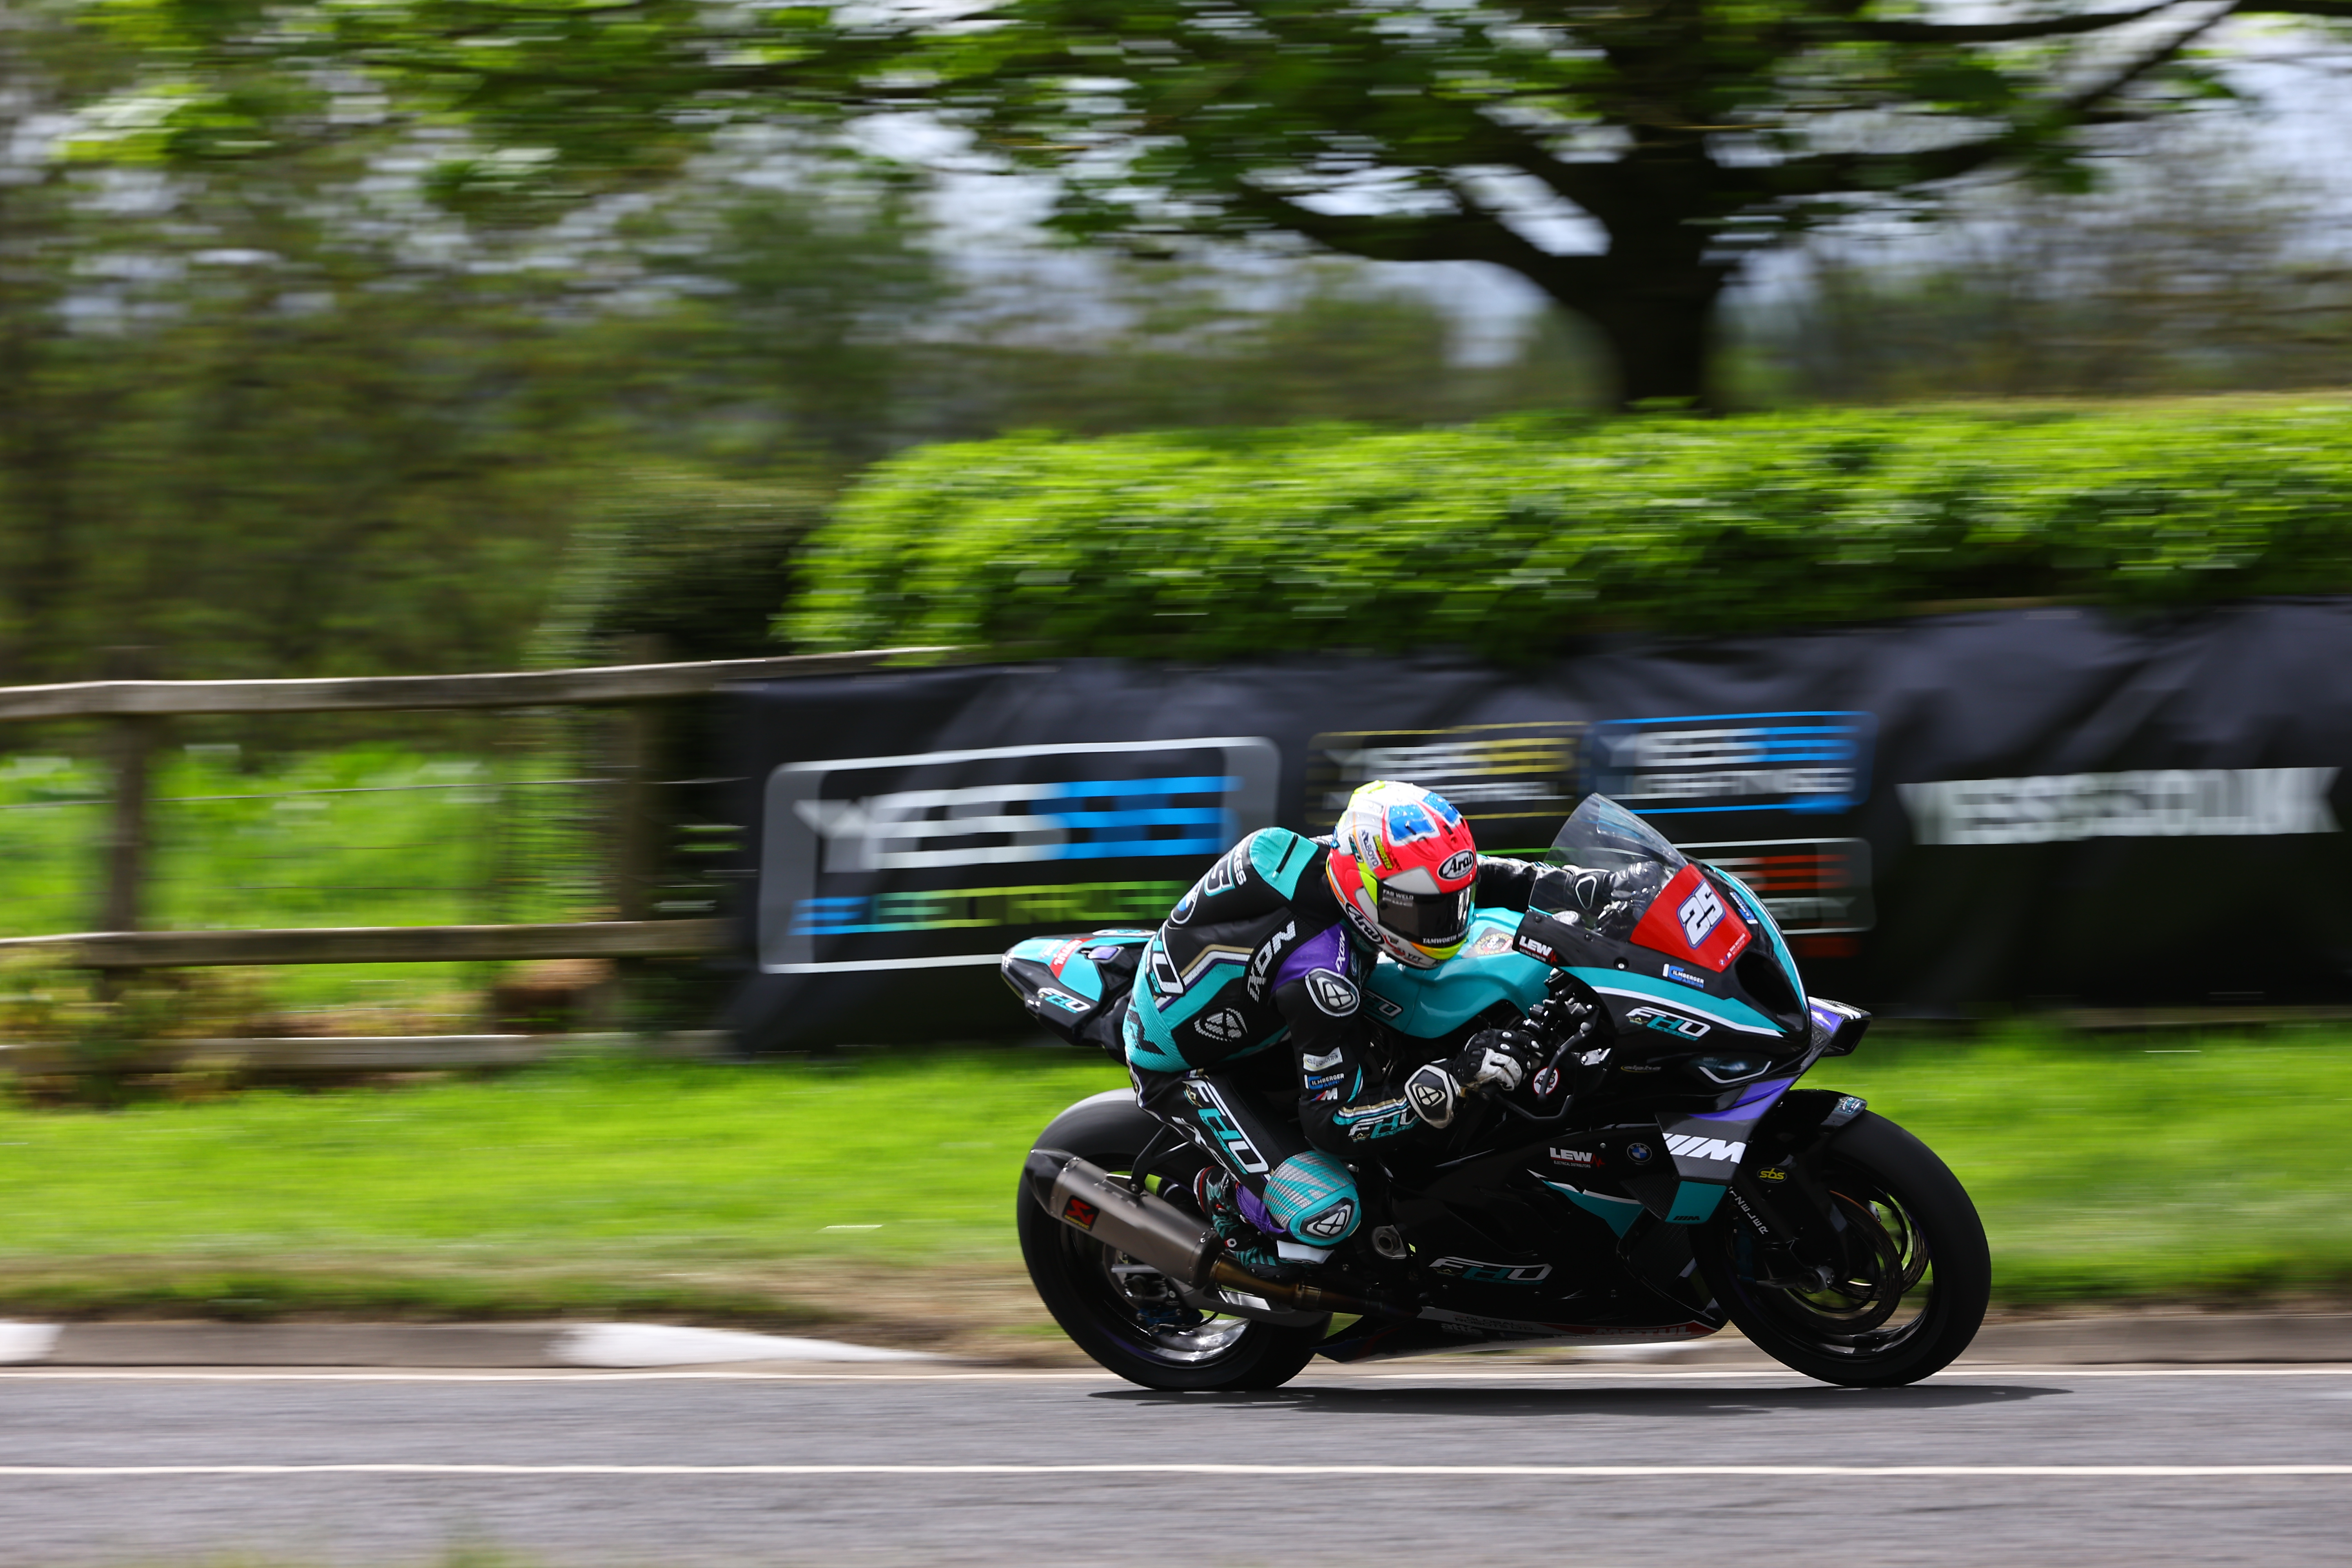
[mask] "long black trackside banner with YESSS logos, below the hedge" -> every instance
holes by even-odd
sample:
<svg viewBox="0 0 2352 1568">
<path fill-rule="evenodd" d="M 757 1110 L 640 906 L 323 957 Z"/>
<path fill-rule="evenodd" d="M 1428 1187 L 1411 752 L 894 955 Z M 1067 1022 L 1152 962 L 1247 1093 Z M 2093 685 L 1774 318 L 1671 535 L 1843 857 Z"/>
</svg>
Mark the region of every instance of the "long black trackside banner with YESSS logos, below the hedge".
<svg viewBox="0 0 2352 1568">
<path fill-rule="evenodd" d="M 2352 999 L 2352 602 L 1964 614 L 1541 670 L 1075 661 L 722 696 L 755 863 L 750 1046 L 1028 1027 L 1025 936 L 1155 926 L 1371 778 L 1541 856 L 1592 790 L 1886 1013 Z"/>
</svg>

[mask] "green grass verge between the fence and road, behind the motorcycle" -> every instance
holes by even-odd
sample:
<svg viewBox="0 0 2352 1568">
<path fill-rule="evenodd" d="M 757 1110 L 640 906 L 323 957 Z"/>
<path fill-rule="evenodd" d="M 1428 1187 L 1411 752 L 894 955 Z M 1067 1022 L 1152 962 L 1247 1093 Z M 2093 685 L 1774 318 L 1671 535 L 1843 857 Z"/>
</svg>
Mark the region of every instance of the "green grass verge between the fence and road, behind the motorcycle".
<svg viewBox="0 0 2352 1568">
<path fill-rule="evenodd" d="M 1969 1182 L 2011 1305 L 2352 1284 L 2352 1034 L 1872 1041 L 1846 1088 Z M 579 1063 L 400 1091 L 0 1110 L 0 1309 L 1035 1324 L 1014 1175 L 1073 1051 Z M 948 1309 L 941 1309 L 948 1298 Z M 955 1300 L 962 1298 L 962 1300 Z"/>
</svg>

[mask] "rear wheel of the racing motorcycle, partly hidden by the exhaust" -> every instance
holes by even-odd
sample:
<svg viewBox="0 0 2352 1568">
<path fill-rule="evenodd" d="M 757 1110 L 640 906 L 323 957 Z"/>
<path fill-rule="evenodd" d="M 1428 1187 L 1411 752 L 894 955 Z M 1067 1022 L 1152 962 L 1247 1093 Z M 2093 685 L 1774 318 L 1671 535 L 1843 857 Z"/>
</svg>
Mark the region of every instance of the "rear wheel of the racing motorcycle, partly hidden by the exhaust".
<svg viewBox="0 0 2352 1568">
<path fill-rule="evenodd" d="M 1112 1091 L 1073 1105 L 1037 1147 L 1068 1150 L 1124 1175 L 1155 1121 Z M 1105 1368 L 1148 1389 L 1275 1389 L 1315 1359 L 1329 1319 L 1261 1324 L 1185 1305 L 1160 1269 L 1049 1215 L 1023 1187 L 1021 1260 L 1047 1312 Z"/>
</svg>

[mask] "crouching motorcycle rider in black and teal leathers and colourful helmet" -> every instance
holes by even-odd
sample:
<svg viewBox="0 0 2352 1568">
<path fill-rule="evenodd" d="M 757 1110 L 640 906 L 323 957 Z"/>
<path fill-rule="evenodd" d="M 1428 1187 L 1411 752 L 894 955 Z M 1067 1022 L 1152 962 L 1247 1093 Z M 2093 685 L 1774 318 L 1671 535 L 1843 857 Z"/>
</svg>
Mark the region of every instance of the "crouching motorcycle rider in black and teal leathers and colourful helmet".
<svg viewBox="0 0 2352 1568">
<path fill-rule="evenodd" d="M 1444 1128 L 1463 1095 L 1517 1088 L 1536 1070 L 1538 1037 L 1515 1027 L 1475 1034 L 1399 1086 L 1381 1081 L 1362 976 L 1383 952 L 1444 964 L 1472 907 L 1526 910 L 1545 870 L 1479 856 L 1444 797 L 1376 780 L 1329 837 L 1263 827 L 1176 900 L 1143 947 L 1120 1030 L 1141 1105 L 1216 1154 L 1192 1197 L 1237 1262 L 1324 1262 L 1362 1220 L 1350 1154 Z M 1275 1051 L 1296 1084 L 1296 1126 L 1254 1093 L 1251 1079 L 1279 1072 Z"/>
</svg>

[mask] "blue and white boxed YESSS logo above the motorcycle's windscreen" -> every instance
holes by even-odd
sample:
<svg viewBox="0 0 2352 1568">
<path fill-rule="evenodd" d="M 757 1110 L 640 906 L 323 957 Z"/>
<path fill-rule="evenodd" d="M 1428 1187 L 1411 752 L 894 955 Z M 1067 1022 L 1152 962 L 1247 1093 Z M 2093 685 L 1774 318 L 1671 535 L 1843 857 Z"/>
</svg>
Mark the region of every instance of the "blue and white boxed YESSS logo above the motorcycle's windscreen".
<svg viewBox="0 0 2352 1568">
<path fill-rule="evenodd" d="M 1851 811 L 1870 795 L 1867 712 L 1705 712 L 1592 726 L 1592 788 L 1642 816 Z"/>
</svg>

